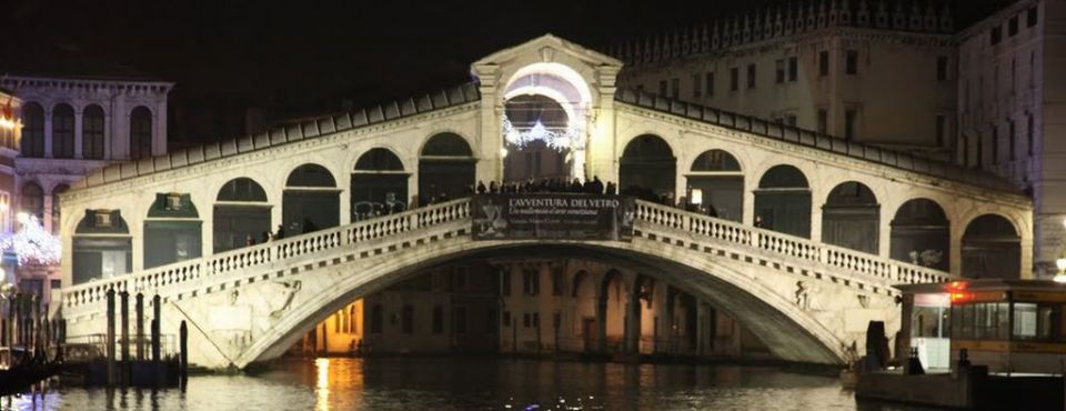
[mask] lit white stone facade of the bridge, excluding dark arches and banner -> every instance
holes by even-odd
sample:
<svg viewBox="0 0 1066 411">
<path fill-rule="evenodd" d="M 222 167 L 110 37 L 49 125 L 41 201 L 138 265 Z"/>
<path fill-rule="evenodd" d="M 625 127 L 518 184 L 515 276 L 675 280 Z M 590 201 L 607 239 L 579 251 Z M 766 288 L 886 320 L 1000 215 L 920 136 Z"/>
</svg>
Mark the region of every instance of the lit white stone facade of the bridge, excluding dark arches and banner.
<svg viewBox="0 0 1066 411">
<path fill-rule="evenodd" d="M 195 324 L 218 323 L 193 331 L 191 345 L 198 361 L 243 367 L 279 355 L 354 299 L 405 274 L 479 252 L 544 245 L 582 250 L 609 261 L 631 261 L 641 271 L 677 284 L 750 324 L 781 358 L 836 363 L 847 357 L 849 344 L 859 340 L 868 320 L 886 321 L 889 330 L 898 328 L 893 301 L 897 292 L 892 284 L 953 275 L 888 259 L 893 215 L 914 199 L 927 199 L 946 214 L 949 240 L 947 250 L 939 251 L 949 255 L 946 267 L 951 272 L 962 271 L 966 228 L 979 217 L 996 215 L 1017 233 L 1022 253 L 1012 262 L 1015 272 L 1020 278 L 1030 275 L 1032 203 L 1004 182 L 758 119 L 643 94 L 616 94 L 614 79 L 620 69 L 617 60 L 544 36 L 475 62 L 477 89 L 461 87 L 107 167 L 62 194 L 64 209 L 77 210 L 66 212 L 61 220 L 63 280 L 64 284 L 73 282 L 71 245 L 79 239 L 128 239 L 132 274 L 73 284 L 64 291 L 60 313 L 89 330 L 101 321 L 95 313 L 105 288 L 159 292 L 167 304 L 167 329 L 183 319 Z M 504 164 L 500 119 L 506 101 L 501 90 L 531 73 L 556 76 L 585 88 L 585 166 L 584 172 L 574 177 L 619 181 L 631 142 L 652 134 L 664 141 L 674 164 L 673 174 L 666 178 L 671 181 L 658 182 L 680 192 L 691 178 L 690 166 L 701 153 L 723 150 L 735 158 L 743 176 L 741 221 L 642 203 L 637 217 L 643 224 L 638 227 L 641 237 L 633 242 L 529 243 L 471 240 L 469 204 L 462 200 L 353 221 L 346 201 L 352 196 L 353 171 L 359 159 L 374 149 L 395 156 L 402 171 L 409 173 L 409 193 L 419 191 L 420 179 L 433 177 L 421 172 L 441 158 L 425 154 L 424 149 L 444 133 L 457 136 L 471 148 L 470 154 L 449 154 L 445 160 L 473 162 L 471 179 L 500 180 Z M 274 227 L 284 219 L 293 171 L 306 164 L 318 164 L 330 174 L 333 187 L 315 187 L 314 191 L 336 196 L 341 227 L 212 255 L 214 210 L 227 206 L 219 199 L 223 188 L 235 179 L 253 180 L 262 188 L 262 207 L 269 210 L 269 225 Z M 797 218 L 809 219 L 809 240 L 751 227 L 763 189 L 760 180 L 783 164 L 794 167 L 807 182 L 809 214 Z M 834 188 L 847 181 L 862 183 L 876 198 L 879 234 L 875 253 L 823 242 L 822 206 Z M 144 270 L 144 228 L 160 194 L 188 196 L 195 204 L 199 214 L 182 221 L 201 229 L 199 254 L 204 258 Z M 115 211 L 125 225 L 114 220 Z M 115 231 L 78 232 L 93 224 L 93 217 L 110 219 L 104 225 Z M 622 275 L 624 283 L 635 284 L 633 275 Z M 635 285 L 626 287 L 632 290 Z M 232 307 L 233 315 L 217 313 L 220 307 Z M 234 318 L 239 324 L 230 321 Z M 544 315 L 540 321 L 551 319 Z M 617 323 L 613 327 L 616 331 Z"/>
</svg>

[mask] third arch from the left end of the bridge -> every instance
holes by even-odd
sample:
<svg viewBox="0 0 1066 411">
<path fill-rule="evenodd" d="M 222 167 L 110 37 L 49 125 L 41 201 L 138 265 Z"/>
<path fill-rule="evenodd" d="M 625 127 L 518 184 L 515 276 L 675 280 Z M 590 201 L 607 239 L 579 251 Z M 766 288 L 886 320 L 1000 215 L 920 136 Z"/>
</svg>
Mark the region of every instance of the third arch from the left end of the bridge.
<svg viewBox="0 0 1066 411">
<path fill-rule="evenodd" d="M 270 239 L 270 203 L 254 180 L 238 178 L 219 190 L 214 204 L 213 252 L 219 253 Z"/>
</svg>

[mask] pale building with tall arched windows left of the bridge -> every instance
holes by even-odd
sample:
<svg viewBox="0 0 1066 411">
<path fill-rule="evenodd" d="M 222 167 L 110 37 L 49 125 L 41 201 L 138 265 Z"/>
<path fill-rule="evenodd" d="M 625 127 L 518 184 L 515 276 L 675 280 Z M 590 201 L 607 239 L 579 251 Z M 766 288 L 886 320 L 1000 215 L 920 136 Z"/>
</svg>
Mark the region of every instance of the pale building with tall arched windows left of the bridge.
<svg viewBox="0 0 1066 411">
<path fill-rule="evenodd" d="M 36 218 L 47 232 L 58 234 L 59 194 L 73 182 L 108 164 L 167 152 L 167 94 L 173 83 L 3 74 L 0 87 L 22 100 L 10 164 L 16 210 Z M 21 264 L 17 271 L 22 289 L 44 301 L 60 287 L 58 262 Z"/>
</svg>

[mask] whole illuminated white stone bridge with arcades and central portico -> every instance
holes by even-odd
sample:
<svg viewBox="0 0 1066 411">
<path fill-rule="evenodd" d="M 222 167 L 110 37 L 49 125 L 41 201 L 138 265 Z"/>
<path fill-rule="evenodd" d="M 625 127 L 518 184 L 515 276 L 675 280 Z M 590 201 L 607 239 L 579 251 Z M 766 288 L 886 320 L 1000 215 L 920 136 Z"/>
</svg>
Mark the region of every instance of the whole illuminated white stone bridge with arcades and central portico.
<svg viewBox="0 0 1066 411">
<path fill-rule="evenodd" d="M 1030 275 L 1009 184 L 616 90 L 621 69 L 544 36 L 473 63 L 473 84 L 103 169 L 61 198 L 53 314 L 99 333 L 108 290 L 159 294 L 193 363 L 244 367 L 420 269 L 580 253 L 656 273 L 783 359 L 838 363 L 868 321 L 898 329 L 894 284 Z M 697 211 L 640 200 L 628 241 L 472 238 L 471 187 L 545 177 Z"/>
</svg>

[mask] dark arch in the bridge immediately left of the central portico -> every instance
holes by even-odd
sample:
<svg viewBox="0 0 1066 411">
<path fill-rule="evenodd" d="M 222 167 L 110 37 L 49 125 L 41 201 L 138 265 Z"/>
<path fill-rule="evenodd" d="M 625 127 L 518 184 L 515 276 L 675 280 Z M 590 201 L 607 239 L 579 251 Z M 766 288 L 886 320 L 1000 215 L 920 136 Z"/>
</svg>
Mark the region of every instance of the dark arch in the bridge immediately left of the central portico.
<svg viewBox="0 0 1066 411">
<path fill-rule="evenodd" d="M 419 197 L 422 204 L 457 199 L 474 184 L 473 151 L 462 137 L 444 132 L 430 138 L 419 159 Z"/>
</svg>

